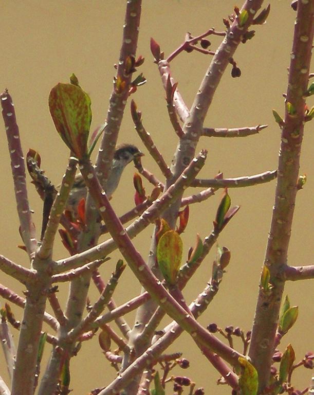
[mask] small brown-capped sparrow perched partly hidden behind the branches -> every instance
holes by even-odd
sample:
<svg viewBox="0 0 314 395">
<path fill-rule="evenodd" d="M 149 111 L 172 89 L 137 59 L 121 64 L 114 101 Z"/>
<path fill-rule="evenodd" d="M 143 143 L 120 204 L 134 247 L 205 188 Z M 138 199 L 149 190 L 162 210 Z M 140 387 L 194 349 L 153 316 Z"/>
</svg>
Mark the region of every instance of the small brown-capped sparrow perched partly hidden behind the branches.
<svg viewBox="0 0 314 395">
<path fill-rule="evenodd" d="M 129 163 L 135 161 L 137 158 L 143 155 L 144 154 L 136 146 L 132 144 L 124 143 L 121 144 L 120 146 L 117 146 L 114 154 L 112 170 L 110 172 L 107 181 L 106 194 L 109 199 L 117 189 L 121 175 L 125 167 Z M 76 212 L 80 200 L 83 197 L 86 198 L 86 194 L 87 194 L 87 188 L 85 186 L 84 179 L 81 174 L 77 174 L 75 177 L 75 182 L 72 186 L 72 189 L 68 197 L 66 209 L 72 212 Z"/>
</svg>

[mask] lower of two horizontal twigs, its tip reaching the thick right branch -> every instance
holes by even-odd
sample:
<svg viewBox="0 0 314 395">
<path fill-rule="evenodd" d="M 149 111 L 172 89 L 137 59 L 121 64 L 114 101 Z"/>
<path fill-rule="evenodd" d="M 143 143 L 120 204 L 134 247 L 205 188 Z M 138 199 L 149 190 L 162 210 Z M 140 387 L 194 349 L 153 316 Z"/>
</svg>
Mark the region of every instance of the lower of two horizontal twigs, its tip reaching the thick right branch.
<svg viewBox="0 0 314 395">
<path fill-rule="evenodd" d="M 264 184 L 272 181 L 277 176 L 277 171 L 265 171 L 264 173 L 254 174 L 236 178 L 220 179 L 195 179 L 192 187 L 212 187 L 212 188 L 242 188 L 250 187 L 257 184 Z"/>
</svg>

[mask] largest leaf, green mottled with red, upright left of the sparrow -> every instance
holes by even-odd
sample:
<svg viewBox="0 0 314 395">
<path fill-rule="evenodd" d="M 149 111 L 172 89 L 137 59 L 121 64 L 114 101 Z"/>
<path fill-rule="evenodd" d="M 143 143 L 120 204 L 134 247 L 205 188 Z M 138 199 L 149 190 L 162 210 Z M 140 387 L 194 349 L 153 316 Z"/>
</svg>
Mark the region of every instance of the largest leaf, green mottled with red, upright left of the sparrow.
<svg viewBox="0 0 314 395">
<path fill-rule="evenodd" d="M 91 122 L 90 99 L 80 87 L 59 83 L 51 89 L 49 110 L 69 149 L 80 159 L 87 154 Z"/>
</svg>

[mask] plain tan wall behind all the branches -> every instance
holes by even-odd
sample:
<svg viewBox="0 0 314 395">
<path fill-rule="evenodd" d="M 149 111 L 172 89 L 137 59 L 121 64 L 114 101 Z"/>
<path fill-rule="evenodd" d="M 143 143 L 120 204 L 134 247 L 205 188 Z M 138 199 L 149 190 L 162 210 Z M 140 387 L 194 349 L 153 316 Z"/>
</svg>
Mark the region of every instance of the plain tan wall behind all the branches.
<svg viewBox="0 0 314 395">
<path fill-rule="evenodd" d="M 91 97 L 92 129 L 103 122 L 115 74 L 114 63 L 118 60 L 125 3 L 122 0 L 23 0 L 2 4 L 1 89 L 7 87 L 13 97 L 25 155 L 29 148 L 38 150 L 42 156 L 42 167 L 55 184 L 61 181 L 68 151 L 54 130 L 50 118 L 47 105 L 50 89 L 58 82 L 68 82 L 71 73 L 75 73 L 81 86 Z M 143 72 L 147 83 L 138 89 L 133 99 L 142 111 L 146 130 L 151 133 L 157 147 L 170 163 L 177 137 L 168 120 L 165 93 L 150 53 L 150 37 L 160 44 L 168 56 L 182 42 L 187 31 L 197 35 L 212 26 L 216 30 L 223 30 L 222 18 L 232 12 L 234 1 L 147 0 L 143 3 L 137 54 L 145 57 L 145 63 L 139 71 Z M 237 5 L 241 6 L 241 3 Z M 271 2 L 267 24 L 254 27 L 256 34 L 253 40 L 239 46 L 234 59 L 242 70 L 242 76 L 231 78 L 231 66 L 228 67 L 205 124 L 208 127 L 245 127 L 266 123 L 269 127 L 258 135 L 246 138 L 201 138 L 199 150 L 209 150 L 202 177 L 212 178 L 218 171 L 223 171 L 226 177 L 236 177 L 276 168 L 280 130 L 274 122 L 271 110 L 275 108 L 280 114 L 284 112 L 282 94 L 286 91 L 294 17 L 290 1 L 274 0 Z M 209 40 L 212 42 L 211 49 L 215 50 L 221 38 L 212 36 Z M 179 82 L 180 92 L 188 106 L 193 101 L 210 61 L 211 57 L 200 53 L 184 52 L 171 64 L 173 77 Z M 308 105 L 312 105 L 310 99 Z M 4 128 L 2 136 L 0 252 L 27 266 L 25 253 L 16 248 L 21 240 Z M 135 143 L 145 151 L 134 131 L 128 106 L 119 142 Z M 292 265 L 313 263 L 313 143 L 312 124 L 308 123 L 305 128 L 300 169 L 301 173 L 307 174 L 308 181 L 304 190 L 297 196 L 289 247 L 289 263 Z M 149 155 L 143 158 L 143 164 L 161 177 Z M 133 173 L 134 169 L 129 166 L 112 200 L 118 214 L 133 207 Z M 152 187 L 146 182 L 144 184 L 147 193 L 150 193 Z M 203 325 L 216 322 L 222 328 L 233 325 L 243 328 L 244 331 L 251 329 L 274 188 L 275 182 L 245 189 L 230 189 L 232 204 L 241 205 L 241 210 L 220 235 L 218 242 L 219 245 L 225 245 L 231 250 L 232 259 L 218 295 L 200 318 Z M 194 192 L 196 191 L 190 191 Z M 40 232 L 42 203 L 31 185 L 29 196 L 31 207 L 35 211 L 34 221 Z M 189 226 L 182 236 L 184 254 L 194 244 L 197 232 L 201 237 L 210 234 L 220 196 L 221 191 L 218 191 L 205 203 L 190 207 Z M 144 257 L 149 250 L 151 232 L 152 226 L 135 239 L 135 244 Z M 54 258 L 67 255 L 58 240 Z M 193 300 L 206 286 L 214 257 L 215 251 L 212 250 L 184 290 L 188 301 Z M 119 254 L 113 254 L 112 260 L 101 268 L 104 279 L 108 279 L 118 258 Z M 2 275 L 1 282 L 22 294 L 21 285 L 13 282 L 8 276 Z M 302 283 L 288 283 L 285 290 L 285 294 L 288 293 L 290 297 L 291 305 L 298 305 L 300 310 L 297 324 L 282 339 L 280 349 L 283 351 L 291 342 L 297 360 L 300 360 L 305 352 L 313 349 L 313 289 L 312 281 L 306 280 Z M 139 290 L 137 280 L 127 269 L 118 285 L 115 299 L 119 304 L 135 296 Z M 58 296 L 64 306 L 67 296 L 66 285 L 60 286 Z M 97 291 L 92 285 L 91 301 L 95 301 L 97 296 Z M 11 306 L 16 318 L 21 319 L 21 310 L 12 304 Z M 130 314 L 127 319 L 132 326 L 134 316 Z M 165 320 L 164 323 L 168 321 Z M 13 333 L 17 341 L 18 334 L 15 330 Z M 236 347 L 241 351 L 241 345 L 237 342 Z M 49 351 L 49 348 L 48 345 L 46 350 Z M 190 376 L 196 382 L 196 388 L 205 387 L 206 393 L 230 393 L 229 388 L 216 386 L 217 372 L 200 355 L 187 334 L 183 334 L 171 350 L 182 351 L 183 356 L 191 362 L 188 371 L 177 370 L 176 374 Z M 91 342 L 83 344 L 81 352 L 73 358 L 71 364 L 73 369 L 70 387 L 73 388 L 73 393 L 88 393 L 95 387 L 105 385 L 109 378 L 115 375 L 114 369 L 101 353 L 97 336 Z M 3 364 L 2 366 L 1 374 L 6 379 L 6 371 Z M 311 371 L 299 369 L 295 373 L 297 387 L 303 389 L 307 386 L 310 376 Z M 171 387 L 167 393 L 172 393 Z"/>
</svg>

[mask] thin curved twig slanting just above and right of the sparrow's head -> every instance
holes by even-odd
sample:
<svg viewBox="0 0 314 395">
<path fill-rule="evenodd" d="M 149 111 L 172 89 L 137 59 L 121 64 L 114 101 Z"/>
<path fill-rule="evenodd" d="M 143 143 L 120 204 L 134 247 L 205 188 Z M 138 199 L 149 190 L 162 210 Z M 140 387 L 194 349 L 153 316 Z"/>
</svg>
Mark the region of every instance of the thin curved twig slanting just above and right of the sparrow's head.
<svg viewBox="0 0 314 395">
<path fill-rule="evenodd" d="M 159 166 L 160 171 L 165 176 L 165 178 L 171 177 L 171 171 L 167 163 L 165 163 L 160 151 L 156 147 L 150 133 L 147 133 L 142 120 L 141 120 L 141 113 L 137 110 L 137 106 L 135 101 L 131 101 L 131 114 L 132 119 L 135 124 L 135 130 L 137 131 L 138 135 L 140 136 L 141 140 L 143 141 L 147 151 L 149 151 L 152 158 L 155 160 L 157 165 Z"/>
</svg>

